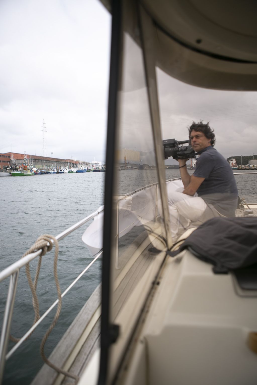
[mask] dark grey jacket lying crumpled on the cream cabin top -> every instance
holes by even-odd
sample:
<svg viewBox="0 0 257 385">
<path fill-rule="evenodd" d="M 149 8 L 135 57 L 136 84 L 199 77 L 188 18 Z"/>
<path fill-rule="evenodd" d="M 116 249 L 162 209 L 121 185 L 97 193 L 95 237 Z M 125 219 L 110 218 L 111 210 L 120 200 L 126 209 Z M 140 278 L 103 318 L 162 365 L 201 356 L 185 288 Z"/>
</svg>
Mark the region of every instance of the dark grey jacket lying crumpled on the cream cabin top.
<svg viewBox="0 0 257 385">
<path fill-rule="evenodd" d="M 257 263 L 257 218 L 212 218 L 184 241 L 178 251 L 190 249 L 219 270 L 233 270 Z"/>
</svg>

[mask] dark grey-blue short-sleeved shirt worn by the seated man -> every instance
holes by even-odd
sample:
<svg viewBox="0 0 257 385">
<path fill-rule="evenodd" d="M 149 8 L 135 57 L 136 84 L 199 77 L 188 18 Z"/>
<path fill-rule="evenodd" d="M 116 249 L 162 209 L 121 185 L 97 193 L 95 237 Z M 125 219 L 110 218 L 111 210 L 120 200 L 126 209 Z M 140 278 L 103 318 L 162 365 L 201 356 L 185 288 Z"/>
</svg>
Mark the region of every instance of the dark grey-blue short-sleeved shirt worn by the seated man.
<svg viewBox="0 0 257 385">
<path fill-rule="evenodd" d="M 237 208 L 237 184 L 232 168 L 213 146 L 200 151 L 194 176 L 205 178 L 198 188 L 198 195 L 222 215 L 235 216 Z"/>
</svg>

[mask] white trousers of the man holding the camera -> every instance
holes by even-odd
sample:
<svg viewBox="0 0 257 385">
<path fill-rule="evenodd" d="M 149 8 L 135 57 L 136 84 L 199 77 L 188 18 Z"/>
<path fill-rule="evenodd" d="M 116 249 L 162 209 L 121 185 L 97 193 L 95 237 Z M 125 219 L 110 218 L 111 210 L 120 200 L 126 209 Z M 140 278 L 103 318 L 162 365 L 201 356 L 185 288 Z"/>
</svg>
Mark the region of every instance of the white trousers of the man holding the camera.
<svg viewBox="0 0 257 385">
<path fill-rule="evenodd" d="M 173 242 L 183 234 L 190 222 L 198 221 L 207 208 L 200 196 L 183 194 L 182 191 L 184 188 L 179 187 L 168 197 Z"/>
</svg>

